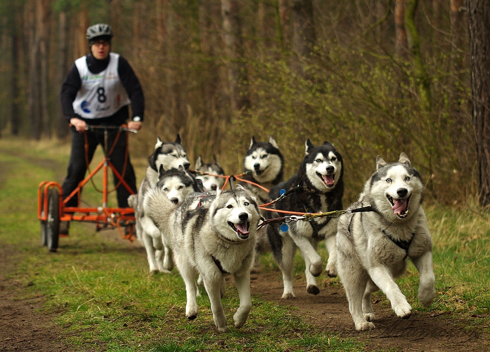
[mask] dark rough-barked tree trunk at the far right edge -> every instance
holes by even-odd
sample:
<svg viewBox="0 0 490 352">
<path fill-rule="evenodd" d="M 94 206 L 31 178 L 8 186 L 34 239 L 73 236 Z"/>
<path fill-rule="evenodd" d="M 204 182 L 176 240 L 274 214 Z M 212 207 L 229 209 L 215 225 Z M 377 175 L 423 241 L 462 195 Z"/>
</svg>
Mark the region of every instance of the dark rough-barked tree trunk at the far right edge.
<svg viewBox="0 0 490 352">
<path fill-rule="evenodd" d="M 490 2 L 466 0 L 480 205 L 490 205 Z"/>
</svg>

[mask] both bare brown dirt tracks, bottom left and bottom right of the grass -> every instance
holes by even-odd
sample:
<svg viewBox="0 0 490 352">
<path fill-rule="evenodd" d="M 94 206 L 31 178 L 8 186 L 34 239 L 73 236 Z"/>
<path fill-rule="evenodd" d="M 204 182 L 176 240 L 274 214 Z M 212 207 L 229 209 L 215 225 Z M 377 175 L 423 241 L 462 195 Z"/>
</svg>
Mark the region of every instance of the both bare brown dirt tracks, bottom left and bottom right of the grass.
<svg viewBox="0 0 490 352">
<path fill-rule="evenodd" d="M 0 248 L 0 350 L 16 351 L 70 351 L 64 346 L 61 328 L 52 322 L 52 316 L 36 313 L 45 297 L 26 296 L 26 286 L 15 279 L 15 253 L 7 246 Z M 28 283 L 30 285 L 31 283 Z M 490 337 L 477 330 L 466 330 L 465 322 L 456 314 L 416 313 L 401 320 L 393 311 L 375 303 L 377 329 L 357 333 L 349 314 L 347 299 L 342 289 L 329 284 L 321 287 L 320 294 L 306 293 L 304 282 L 295 282 L 297 298 L 280 299 L 282 282 L 278 273 L 252 274 L 252 293 L 264 300 L 296 307 L 293 314 L 306 317 L 321 330 L 332 331 L 339 339 L 353 338 L 365 343 L 371 350 L 418 351 L 477 351 L 490 349 Z"/>
</svg>

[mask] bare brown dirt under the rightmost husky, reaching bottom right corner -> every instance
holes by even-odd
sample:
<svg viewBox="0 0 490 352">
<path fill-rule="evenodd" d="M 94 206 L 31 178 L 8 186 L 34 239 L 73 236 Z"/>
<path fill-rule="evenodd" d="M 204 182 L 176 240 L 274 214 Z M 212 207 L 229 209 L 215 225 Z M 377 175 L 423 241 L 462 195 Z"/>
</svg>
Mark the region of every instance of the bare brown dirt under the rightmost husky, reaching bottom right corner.
<svg viewBox="0 0 490 352">
<path fill-rule="evenodd" d="M 322 277 L 326 277 L 322 275 Z M 318 283 L 321 281 L 318 280 Z M 321 330 L 332 331 L 339 339 L 362 341 L 367 351 L 386 349 L 400 351 L 483 351 L 490 350 L 490 336 L 477 330 L 467 330 L 467 322 L 451 313 L 415 313 L 409 319 L 399 319 L 390 308 L 373 305 L 378 320 L 375 330 L 356 332 L 349 314 L 344 290 L 326 279 L 320 294 L 306 292 L 303 278 L 296 278 L 296 299 L 284 301 L 282 281 L 277 273 L 252 275 L 252 293 L 266 301 L 296 307 L 295 314 L 307 317 Z"/>
</svg>

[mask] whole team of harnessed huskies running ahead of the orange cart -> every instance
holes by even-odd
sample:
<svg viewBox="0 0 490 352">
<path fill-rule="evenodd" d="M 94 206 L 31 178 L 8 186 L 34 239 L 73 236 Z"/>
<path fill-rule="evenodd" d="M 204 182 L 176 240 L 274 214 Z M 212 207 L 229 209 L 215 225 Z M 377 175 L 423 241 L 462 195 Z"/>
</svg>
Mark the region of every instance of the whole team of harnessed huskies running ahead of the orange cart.
<svg viewBox="0 0 490 352">
<path fill-rule="evenodd" d="M 421 205 L 424 186 L 405 153 L 391 163 L 376 158 L 375 172 L 347 208 L 367 211 L 287 224 L 274 221 L 284 216 L 282 210 L 304 214 L 344 209 L 344 165 L 331 143 L 315 146 L 307 139 L 298 171 L 283 180 L 284 158 L 276 141 L 270 137 L 257 142 L 252 137 L 243 159 L 244 176 L 230 190 L 222 189 L 225 178 L 217 176 L 225 173 L 215 156 L 210 164 L 199 156 L 195 171 L 189 171 L 179 135 L 173 143 L 158 138 L 148 161 L 137 195 L 129 198 L 136 234 L 151 273 L 177 266 L 185 283 L 188 319 L 198 314 L 196 296 L 202 284 L 217 330 L 228 331 L 221 299 L 225 276 L 231 274 L 240 301 L 234 326 L 243 326 L 252 307 L 250 270 L 265 251 L 272 252 L 282 271 L 283 299 L 295 297 L 297 249 L 306 265 L 306 290 L 318 294 L 315 278 L 322 273 L 323 260 L 317 246 L 323 240 L 329 254 L 326 274 L 339 276 L 356 330 L 375 328 L 371 294 L 377 290 L 383 291 L 398 317 L 410 316 L 412 308 L 395 282 L 407 258 L 420 272 L 420 302 L 428 307 L 433 301 L 432 240 Z M 268 206 L 271 211 L 259 209 L 271 200 L 277 200 Z"/>
</svg>

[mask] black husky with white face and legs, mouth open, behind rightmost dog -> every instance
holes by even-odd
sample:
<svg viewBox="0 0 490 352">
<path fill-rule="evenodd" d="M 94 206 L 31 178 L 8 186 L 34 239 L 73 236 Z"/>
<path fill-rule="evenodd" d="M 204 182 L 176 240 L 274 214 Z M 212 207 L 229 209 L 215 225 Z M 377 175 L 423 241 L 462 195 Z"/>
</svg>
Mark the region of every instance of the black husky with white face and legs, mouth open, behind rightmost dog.
<svg viewBox="0 0 490 352">
<path fill-rule="evenodd" d="M 335 147 L 325 142 L 314 146 L 306 140 L 306 155 L 298 173 L 288 181 L 271 189 L 271 199 L 286 191 L 285 198 L 274 205 L 276 210 L 289 210 L 300 213 L 317 213 L 342 209 L 344 195 L 344 173 L 342 157 Z M 284 216 L 281 212 L 268 214 L 268 218 Z M 280 223 L 272 223 L 267 227 L 267 237 L 274 258 L 282 270 L 284 283 L 283 299 L 294 298 L 292 290 L 292 270 L 296 249 L 299 248 L 306 264 L 306 289 L 308 293 L 318 294 L 315 277 L 322 272 L 322 258 L 316 253 L 317 244 L 325 238 L 329 253 L 327 274 L 335 276 L 336 252 L 335 233 L 337 219 L 317 218 L 309 222 L 289 222 L 288 229 L 282 232 Z"/>
</svg>

